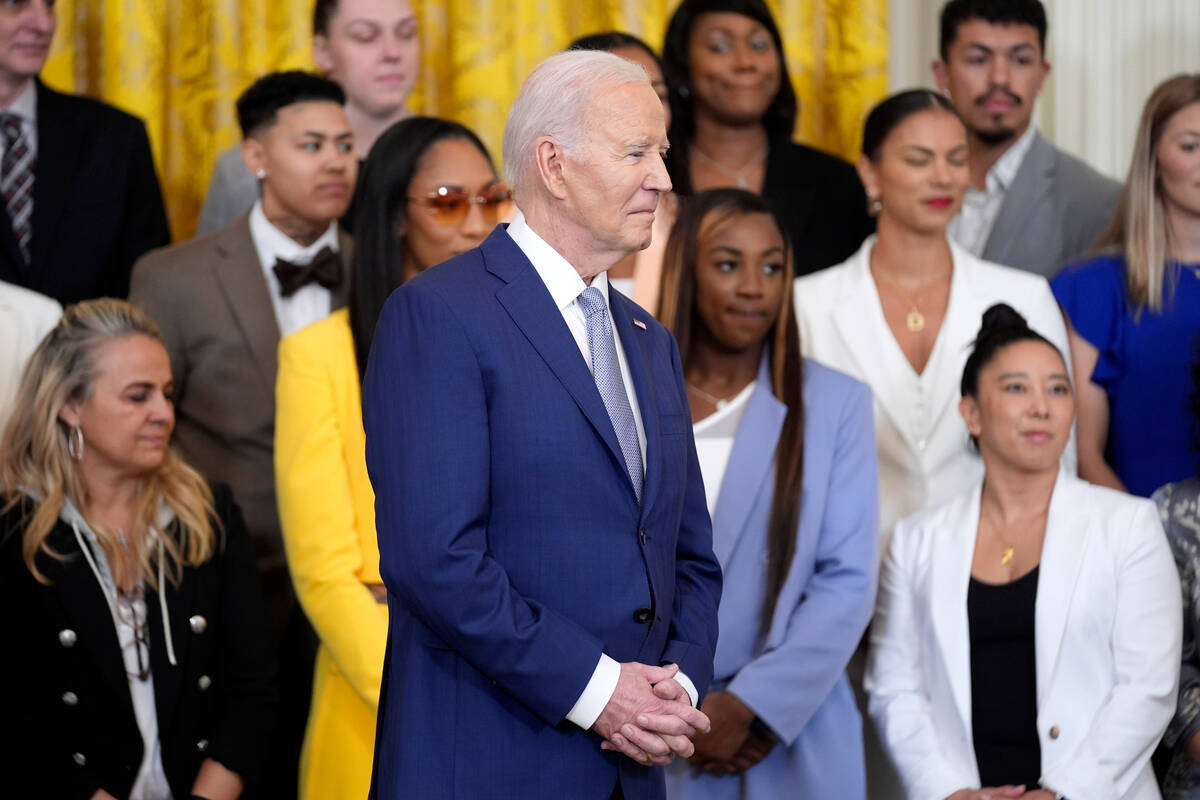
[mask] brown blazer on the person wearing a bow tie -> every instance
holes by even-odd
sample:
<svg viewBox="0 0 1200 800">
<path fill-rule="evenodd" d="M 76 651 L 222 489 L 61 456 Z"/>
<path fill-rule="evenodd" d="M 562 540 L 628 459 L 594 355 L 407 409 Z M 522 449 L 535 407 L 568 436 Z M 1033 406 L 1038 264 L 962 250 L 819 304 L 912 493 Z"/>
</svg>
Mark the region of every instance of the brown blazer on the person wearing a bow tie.
<svg viewBox="0 0 1200 800">
<path fill-rule="evenodd" d="M 348 270 L 353 247 L 341 230 L 338 246 Z M 348 283 L 334 289 L 331 311 L 346 306 Z M 204 477 L 233 488 L 277 637 L 293 597 L 275 503 L 280 329 L 250 217 L 143 255 L 130 300 L 162 329 L 175 379 L 172 444 Z"/>
</svg>

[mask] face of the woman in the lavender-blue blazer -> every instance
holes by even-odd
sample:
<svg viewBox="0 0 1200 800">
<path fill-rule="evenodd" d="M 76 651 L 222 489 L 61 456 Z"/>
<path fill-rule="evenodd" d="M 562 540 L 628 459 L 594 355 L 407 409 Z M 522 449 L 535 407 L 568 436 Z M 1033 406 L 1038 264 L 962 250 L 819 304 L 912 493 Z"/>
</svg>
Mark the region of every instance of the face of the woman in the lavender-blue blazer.
<svg viewBox="0 0 1200 800">
<path fill-rule="evenodd" d="M 767 213 L 738 213 L 701 225 L 696 247 L 696 313 L 726 351 L 762 347 L 779 317 L 785 285 L 784 236 Z"/>
</svg>

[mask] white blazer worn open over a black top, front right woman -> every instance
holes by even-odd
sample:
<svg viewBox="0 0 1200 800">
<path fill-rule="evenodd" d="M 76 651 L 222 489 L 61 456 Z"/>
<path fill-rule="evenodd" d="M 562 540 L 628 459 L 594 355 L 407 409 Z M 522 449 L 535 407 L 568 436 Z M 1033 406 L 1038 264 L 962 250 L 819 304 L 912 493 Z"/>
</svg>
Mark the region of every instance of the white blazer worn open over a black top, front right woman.
<svg viewBox="0 0 1200 800">
<path fill-rule="evenodd" d="M 910 800 L 979 788 L 967 588 L 980 487 L 898 524 L 880 575 L 864 682 Z M 1034 610 L 1046 788 L 1070 800 L 1159 796 L 1150 756 L 1175 712 L 1182 628 L 1153 503 L 1061 470 Z"/>
</svg>

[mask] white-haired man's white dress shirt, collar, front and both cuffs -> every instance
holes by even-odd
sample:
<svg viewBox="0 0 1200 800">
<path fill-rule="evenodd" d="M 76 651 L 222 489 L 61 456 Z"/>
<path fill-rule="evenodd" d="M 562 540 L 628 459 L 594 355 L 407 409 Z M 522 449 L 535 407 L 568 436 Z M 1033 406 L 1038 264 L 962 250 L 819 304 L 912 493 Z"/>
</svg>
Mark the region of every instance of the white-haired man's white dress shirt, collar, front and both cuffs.
<svg viewBox="0 0 1200 800">
<path fill-rule="evenodd" d="M 516 246 L 521 248 L 526 258 L 533 264 L 533 269 L 538 272 L 542 283 L 546 284 L 546 289 L 550 291 L 551 299 L 558 307 L 558 311 L 563 314 L 563 320 L 566 323 L 566 327 L 571 331 L 571 336 L 575 337 L 575 343 L 580 348 L 580 354 L 583 356 L 583 361 L 588 365 L 588 372 L 592 371 L 592 349 L 588 347 L 588 327 L 587 327 L 587 315 L 583 313 L 583 308 L 578 303 L 578 297 L 583 294 L 583 290 L 588 288 L 583 283 L 583 278 L 580 273 L 575 271 L 575 267 L 563 258 L 558 251 L 546 243 L 546 240 L 534 233 L 533 228 L 526 222 L 524 213 L 517 212 L 512 222 L 509 223 L 509 236 L 516 242 Z M 600 290 L 600 295 L 604 297 L 605 305 L 608 303 L 608 276 L 605 272 L 592 278 L 592 285 Z M 620 333 L 617 331 L 617 326 L 612 325 L 612 314 L 610 312 L 610 325 L 612 327 L 613 344 L 617 348 L 617 365 L 620 367 L 620 378 L 625 384 L 625 395 L 629 397 L 629 407 L 634 411 L 634 423 L 637 427 L 637 449 L 642 453 L 642 471 L 646 471 L 646 427 L 642 425 L 642 414 L 637 403 L 637 392 L 634 389 L 634 379 L 629 372 L 629 361 L 625 359 L 625 350 L 620 345 Z M 617 663 L 614 658 L 607 654 L 600 654 L 600 661 L 596 663 L 595 672 L 592 673 L 592 679 L 588 685 L 583 688 L 583 693 L 580 694 L 580 699 L 575 703 L 571 710 L 566 714 L 566 718 L 580 726 L 583 729 L 588 729 L 595 723 L 596 717 L 604 711 L 604 706 L 608 704 L 610 698 L 612 698 L 613 691 L 617 688 L 617 681 L 620 679 L 620 664 Z M 696 687 L 692 685 L 691 680 L 682 672 L 676 675 L 676 680 L 680 686 L 686 690 L 688 696 L 691 698 L 692 705 L 696 704 L 698 694 Z"/>
</svg>

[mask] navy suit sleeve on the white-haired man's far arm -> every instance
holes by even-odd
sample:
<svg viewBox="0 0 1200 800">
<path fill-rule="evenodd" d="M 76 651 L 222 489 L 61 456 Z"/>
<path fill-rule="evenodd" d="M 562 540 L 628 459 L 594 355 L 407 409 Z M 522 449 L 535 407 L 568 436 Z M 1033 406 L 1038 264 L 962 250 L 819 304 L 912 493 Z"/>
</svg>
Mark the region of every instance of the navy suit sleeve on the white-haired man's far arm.
<svg viewBox="0 0 1200 800">
<path fill-rule="evenodd" d="M 671 367 L 674 372 L 679 408 L 688 408 L 679 349 L 671 341 Z M 676 543 L 676 593 L 671 613 L 671 632 L 664 650 L 664 663 L 677 663 L 695 684 L 703 702 L 713 682 L 713 656 L 716 652 L 716 606 L 721 600 L 721 565 L 713 553 L 713 521 L 704 500 L 704 482 L 696 458 L 696 443 L 688 435 L 688 475 L 683 515 Z"/>
</svg>

